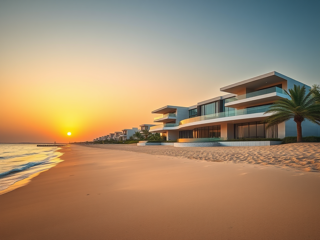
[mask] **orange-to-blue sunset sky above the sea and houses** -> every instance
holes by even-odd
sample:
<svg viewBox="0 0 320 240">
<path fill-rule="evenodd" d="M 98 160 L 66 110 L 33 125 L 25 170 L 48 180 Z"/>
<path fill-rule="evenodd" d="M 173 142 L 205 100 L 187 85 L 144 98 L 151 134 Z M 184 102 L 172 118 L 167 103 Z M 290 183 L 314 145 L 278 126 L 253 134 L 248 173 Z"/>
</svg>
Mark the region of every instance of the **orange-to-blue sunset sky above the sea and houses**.
<svg viewBox="0 0 320 240">
<path fill-rule="evenodd" d="M 320 1 L 0 0 L 0 142 L 92 140 L 271 71 L 319 84 L 319 9 Z"/>
</svg>

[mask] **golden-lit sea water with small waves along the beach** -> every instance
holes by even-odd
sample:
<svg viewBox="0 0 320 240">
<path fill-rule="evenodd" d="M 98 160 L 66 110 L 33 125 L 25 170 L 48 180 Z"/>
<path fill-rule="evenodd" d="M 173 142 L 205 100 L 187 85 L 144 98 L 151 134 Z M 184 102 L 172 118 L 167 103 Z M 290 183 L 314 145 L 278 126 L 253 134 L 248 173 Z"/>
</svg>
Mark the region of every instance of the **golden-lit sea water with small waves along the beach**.
<svg viewBox="0 0 320 240">
<path fill-rule="evenodd" d="M 0 143 L 0 191 L 62 162 L 57 149 L 61 148 Z"/>
</svg>

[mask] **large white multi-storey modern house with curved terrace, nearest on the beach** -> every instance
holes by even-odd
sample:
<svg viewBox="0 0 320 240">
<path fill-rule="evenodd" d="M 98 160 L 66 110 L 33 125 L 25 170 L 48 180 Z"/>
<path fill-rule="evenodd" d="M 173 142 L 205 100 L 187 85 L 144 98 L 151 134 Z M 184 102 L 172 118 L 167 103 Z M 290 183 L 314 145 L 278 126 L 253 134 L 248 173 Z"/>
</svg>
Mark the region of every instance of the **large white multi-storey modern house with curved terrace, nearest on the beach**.
<svg viewBox="0 0 320 240">
<path fill-rule="evenodd" d="M 292 120 L 266 129 L 261 121 L 269 106 L 279 98 L 289 98 L 288 89 L 303 86 L 290 77 L 270 72 L 242 82 L 221 87 L 226 95 L 197 103 L 191 107 L 165 106 L 152 111 L 159 125 L 150 132 L 160 132 L 167 140 L 206 142 L 239 138 L 284 138 L 297 136 Z M 308 89 L 309 86 L 305 85 Z M 302 123 L 302 136 L 320 136 L 320 127 Z"/>
</svg>

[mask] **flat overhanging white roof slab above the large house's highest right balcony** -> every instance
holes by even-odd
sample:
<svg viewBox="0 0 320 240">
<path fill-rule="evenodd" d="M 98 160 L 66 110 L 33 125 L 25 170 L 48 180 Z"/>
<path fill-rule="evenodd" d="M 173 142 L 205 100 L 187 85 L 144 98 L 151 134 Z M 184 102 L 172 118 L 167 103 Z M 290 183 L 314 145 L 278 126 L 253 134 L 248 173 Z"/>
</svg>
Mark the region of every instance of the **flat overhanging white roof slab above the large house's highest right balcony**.
<svg viewBox="0 0 320 240">
<path fill-rule="evenodd" d="M 243 88 L 256 89 L 263 87 L 266 84 L 276 84 L 282 81 L 293 80 L 290 77 L 284 76 L 278 72 L 270 72 L 263 74 L 261 76 L 253 77 L 248 80 L 244 80 L 235 84 L 228 85 L 226 87 L 220 88 L 221 92 L 231 92 L 237 94 L 239 90 Z"/>
</svg>

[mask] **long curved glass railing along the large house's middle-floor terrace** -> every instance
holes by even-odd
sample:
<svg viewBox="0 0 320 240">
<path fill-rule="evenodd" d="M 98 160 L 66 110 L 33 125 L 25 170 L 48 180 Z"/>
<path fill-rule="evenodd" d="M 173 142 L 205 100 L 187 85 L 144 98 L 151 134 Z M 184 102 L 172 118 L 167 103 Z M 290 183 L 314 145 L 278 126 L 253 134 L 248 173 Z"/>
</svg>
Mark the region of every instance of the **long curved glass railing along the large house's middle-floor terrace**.
<svg viewBox="0 0 320 240">
<path fill-rule="evenodd" d="M 245 109 L 239 109 L 234 111 L 192 117 L 192 118 L 188 118 L 180 121 L 179 125 L 198 122 L 198 121 L 204 121 L 204 120 L 209 120 L 214 118 L 221 118 L 221 117 L 240 116 L 240 115 L 246 115 L 246 114 L 252 114 L 252 113 L 264 113 L 269 109 L 270 106 L 271 105 L 265 105 L 265 106 L 259 106 L 254 108 L 245 108 Z"/>
</svg>

